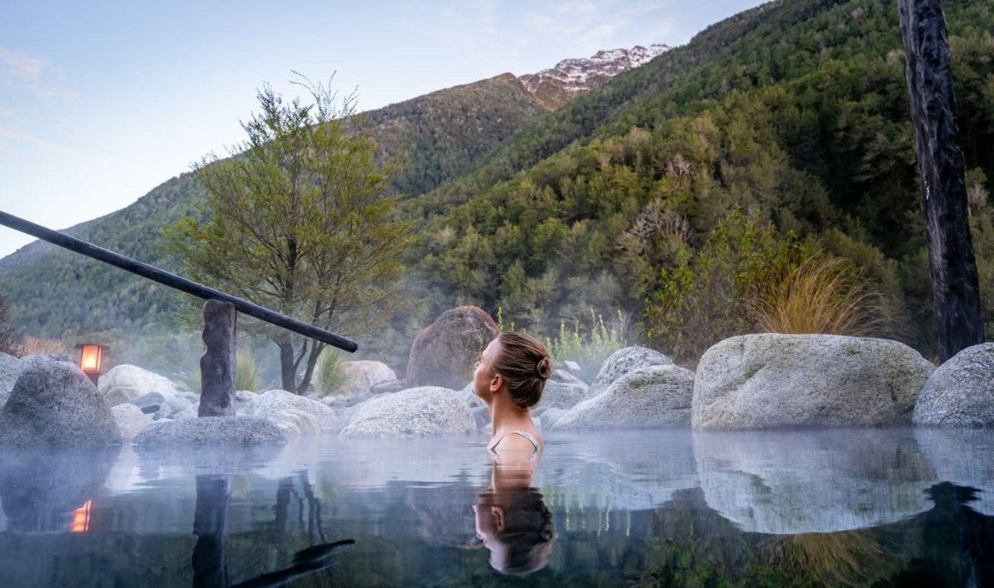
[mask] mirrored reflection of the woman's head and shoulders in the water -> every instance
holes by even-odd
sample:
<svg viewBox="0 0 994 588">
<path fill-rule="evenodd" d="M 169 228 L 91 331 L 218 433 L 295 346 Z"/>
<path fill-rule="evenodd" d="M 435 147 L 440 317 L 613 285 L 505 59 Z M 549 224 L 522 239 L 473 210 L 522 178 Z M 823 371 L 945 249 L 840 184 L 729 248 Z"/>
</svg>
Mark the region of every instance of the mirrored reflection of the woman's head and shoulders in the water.
<svg viewBox="0 0 994 588">
<path fill-rule="evenodd" d="M 527 574 L 549 563 L 555 529 L 542 495 L 531 486 L 534 467 L 535 461 L 494 461 L 490 488 L 473 508 L 490 565 L 505 574 Z"/>
</svg>

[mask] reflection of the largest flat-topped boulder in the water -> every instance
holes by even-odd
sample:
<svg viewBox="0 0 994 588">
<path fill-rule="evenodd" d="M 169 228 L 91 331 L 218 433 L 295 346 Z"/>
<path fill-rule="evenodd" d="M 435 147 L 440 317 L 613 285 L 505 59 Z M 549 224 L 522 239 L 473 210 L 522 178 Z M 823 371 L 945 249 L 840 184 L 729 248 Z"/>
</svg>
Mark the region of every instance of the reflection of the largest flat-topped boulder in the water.
<svg viewBox="0 0 994 588">
<path fill-rule="evenodd" d="M 746 531 L 831 532 L 931 508 L 935 482 L 910 429 L 695 431 L 708 506 Z"/>
</svg>

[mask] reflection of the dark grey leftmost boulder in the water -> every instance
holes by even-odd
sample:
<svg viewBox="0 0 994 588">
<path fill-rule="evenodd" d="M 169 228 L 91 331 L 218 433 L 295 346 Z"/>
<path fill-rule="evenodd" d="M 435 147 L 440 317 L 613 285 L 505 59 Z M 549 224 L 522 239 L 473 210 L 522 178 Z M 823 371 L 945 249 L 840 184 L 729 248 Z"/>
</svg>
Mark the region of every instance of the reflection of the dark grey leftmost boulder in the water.
<svg viewBox="0 0 994 588">
<path fill-rule="evenodd" d="M 0 504 L 6 528 L 18 532 L 70 530 L 74 511 L 100 493 L 118 449 L 0 453 Z"/>
</svg>

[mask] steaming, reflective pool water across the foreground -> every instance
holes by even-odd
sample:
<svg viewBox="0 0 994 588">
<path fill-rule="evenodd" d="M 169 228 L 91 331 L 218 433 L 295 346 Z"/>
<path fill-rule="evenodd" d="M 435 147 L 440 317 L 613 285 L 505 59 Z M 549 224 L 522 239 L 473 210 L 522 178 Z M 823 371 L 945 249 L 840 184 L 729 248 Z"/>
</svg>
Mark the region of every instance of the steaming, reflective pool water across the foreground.
<svg viewBox="0 0 994 588">
<path fill-rule="evenodd" d="M 531 485 L 555 530 L 524 577 L 495 570 L 476 536 L 474 505 L 490 512 L 483 438 L 4 451 L 0 586 L 994 582 L 994 431 L 547 442 Z M 295 565 L 297 551 L 346 539 Z"/>
</svg>

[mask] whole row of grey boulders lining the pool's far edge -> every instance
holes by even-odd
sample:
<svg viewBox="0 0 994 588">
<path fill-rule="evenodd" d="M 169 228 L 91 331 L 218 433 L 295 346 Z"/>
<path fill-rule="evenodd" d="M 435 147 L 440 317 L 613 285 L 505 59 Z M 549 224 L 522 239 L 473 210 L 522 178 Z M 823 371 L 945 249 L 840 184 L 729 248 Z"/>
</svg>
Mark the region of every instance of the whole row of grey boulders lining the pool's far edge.
<svg viewBox="0 0 994 588">
<path fill-rule="evenodd" d="M 453 309 L 415 339 L 406 379 L 379 362 L 349 362 L 341 394 L 240 390 L 231 417 L 198 418 L 198 394 L 135 366 L 109 370 L 96 386 L 69 356 L 0 354 L 0 445 L 255 445 L 322 434 L 485 433 L 487 408 L 466 382 L 496 334 L 483 311 Z M 994 343 L 934 368 L 895 341 L 764 333 L 720 342 L 696 372 L 642 347 L 615 352 L 589 385 L 568 367 L 554 371 L 532 412 L 544 430 L 994 425 Z"/>
</svg>

